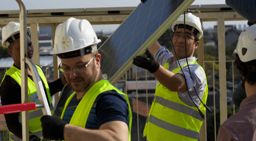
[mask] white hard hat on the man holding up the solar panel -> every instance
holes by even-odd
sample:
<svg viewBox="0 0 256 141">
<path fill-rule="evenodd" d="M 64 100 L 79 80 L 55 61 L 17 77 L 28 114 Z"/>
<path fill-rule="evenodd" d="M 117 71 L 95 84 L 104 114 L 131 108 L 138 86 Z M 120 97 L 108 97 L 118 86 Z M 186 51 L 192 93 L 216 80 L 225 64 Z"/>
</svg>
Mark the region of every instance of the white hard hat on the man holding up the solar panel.
<svg viewBox="0 0 256 141">
<path fill-rule="evenodd" d="M 180 24 L 184 25 L 184 14 L 180 15 L 180 17 L 172 24 L 172 31 L 174 32 L 174 30 L 175 30 L 174 28 L 177 27 L 175 25 L 180 25 Z M 200 18 L 196 17 L 192 13 L 187 13 L 185 15 L 185 24 L 190 25 L 190 26 L 196 28 L 199 31 L 199 33 L 196 34 L 198 39 L 203 37 L 204 32 L 202 30 L 202 25 L 201 25 L 201 22 L 200 22 Z M 193 29 L 191 29 L 191 30 L 193 30 Z M 194 30 L 192 32 L 194 32 Z"/>
</svg>

